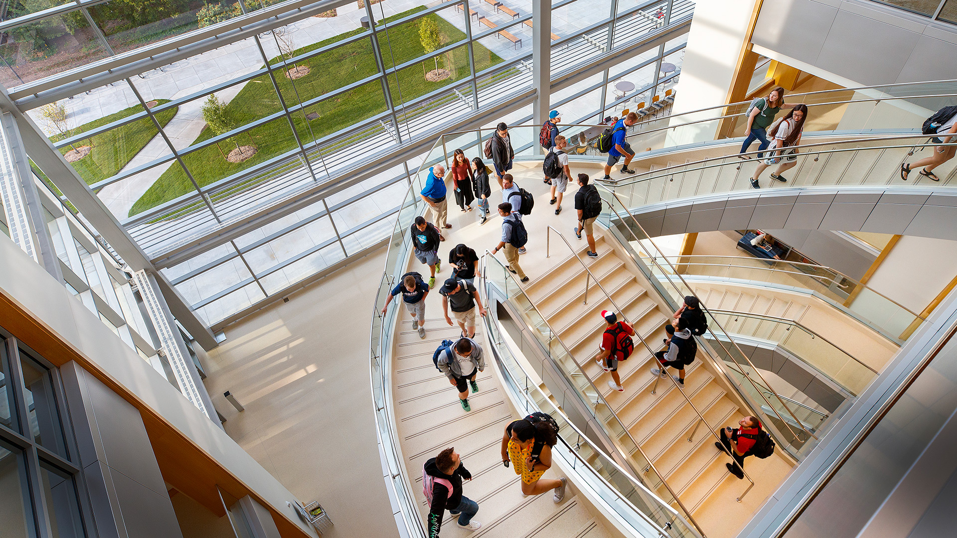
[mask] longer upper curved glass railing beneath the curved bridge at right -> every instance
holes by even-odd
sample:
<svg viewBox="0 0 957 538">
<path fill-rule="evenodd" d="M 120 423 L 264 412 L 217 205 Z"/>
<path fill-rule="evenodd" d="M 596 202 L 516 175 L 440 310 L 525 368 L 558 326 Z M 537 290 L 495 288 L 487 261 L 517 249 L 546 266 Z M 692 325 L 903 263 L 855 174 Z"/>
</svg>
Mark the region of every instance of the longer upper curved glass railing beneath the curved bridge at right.
<svg viewBox="0 0 957 538">
<path fill-rule="evenodd" d="M 924 317 L 871 289 L 866 284 L 823 265 L 784 259 L 734 256 L 682 256 L 667 258 L 653 271 L 658 279 L 675 278 L 679 270 L 686 279 L 715 280 L 745 285 L 767 285 L 810 293 L 851 316 L 897 345 L 913 332 Z"/>
</svg>

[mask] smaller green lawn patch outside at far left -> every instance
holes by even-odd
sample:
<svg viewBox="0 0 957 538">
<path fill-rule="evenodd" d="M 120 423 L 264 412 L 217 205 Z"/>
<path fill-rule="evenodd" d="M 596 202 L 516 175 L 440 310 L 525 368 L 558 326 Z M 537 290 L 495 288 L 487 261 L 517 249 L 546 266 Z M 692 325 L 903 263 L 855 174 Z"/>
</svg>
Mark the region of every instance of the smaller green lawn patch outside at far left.
<svg viewBox="0 0 957 538">
<path fill-rule="evenodd" d="M 167 99 L 158 101 L 159 104 L 169 102 Z M 166 125 L 169 123 L 169 120 L 172 120 L 173 116 L 176 115 L 177 109 L 178 107 L 173 107 L 160 112 L 156 115 L 156 120 L 161 125 Z M 95 129 L 100 125 L 116 122 L 117 120 L 142 111 L 143 107 L 140 105 L 130 106 L 129 108 L 124 108 L 120 112 L 110 114 L 99 120 L 83 123 L 73 129 L 72 134 L 77 135 Z M 134 155 L 139 153 L 150 140 L 153 140 L 153 137 L 155 137 L 158 132 L 156 125 L 148 117 L 137 120 L 136 122 L 126 123 L 115 129 L 110 129 L 104 133 L 74 143 L 73 146 L 93 146 L 93 149 L 82 159 L 70 164 L 77 170 L 79 177 L 86 181 L 87 185 L 93 185 L 98 181 L 116 175 L 117 172 L 126 166 L 126 163 L 128 163 Z M 50 140 L 56 143 L 64 138 L 65 137 L 61 135 L 56 135 L 50 137 Z M 63 146 L 60 147 L 60 153 L 66 155 L 66 153 L 72 149 L 73 147 L 71 146 Z"/>
</svg>

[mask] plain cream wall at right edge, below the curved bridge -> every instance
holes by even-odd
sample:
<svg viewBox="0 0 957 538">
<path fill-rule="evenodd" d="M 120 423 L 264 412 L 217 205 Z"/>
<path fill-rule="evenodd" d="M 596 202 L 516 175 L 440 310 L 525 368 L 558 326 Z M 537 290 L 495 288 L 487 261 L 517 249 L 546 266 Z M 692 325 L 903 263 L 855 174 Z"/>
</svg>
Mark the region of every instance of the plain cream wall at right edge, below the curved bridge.
<svg viewBox="0 0 957 538">
<path fill-rule="evenodd" d="M 957 276 L 957 241 L 904 235 L 867 285 L 921 313 Z"/>
</svg>

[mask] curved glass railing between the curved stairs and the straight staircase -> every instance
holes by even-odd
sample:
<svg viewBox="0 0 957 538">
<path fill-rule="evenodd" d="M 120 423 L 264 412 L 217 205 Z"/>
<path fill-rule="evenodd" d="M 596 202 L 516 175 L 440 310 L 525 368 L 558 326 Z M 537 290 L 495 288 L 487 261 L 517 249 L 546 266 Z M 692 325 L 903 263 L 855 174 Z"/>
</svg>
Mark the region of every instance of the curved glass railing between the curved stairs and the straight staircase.
<svg viewBox="0 0 957 538">
<path fill-rule="evenodd" d="M 489 259 L 494 262 L 490 262 Z M 523 297 L 519 283 L 512 279 L 504 265 L 492 256 L 483 257 L 480 280 L 481 289 L 485 293 L 488 304 L 491 303 L 489 298 L 493 295 L 509 302 L 515 302 L 517 297 Z M 495 288 L 494 291 L 492 287 Z M 521 305 L 517 302 L 515 304 Z M 552 415 L 558 421 L 559 437 L 568 452 L 574 456 L 574 460 L 569 460 L 569 463 L 576 470 L 586 467 L 610 486 L 602 497 L 612 501 L 610 503 L 612 505 L 620 504 L 622 508 L 628 508 L 618 511 L 619 515 L 627 519 L 636 514 L 646 523 L 652 523 L 661 536 L 676 538 L 701 536 L 696 527 L 688 523 L 686 513 L 676 509 L 677 500 L 672 499 L 666 502 L 659 495 L 660 487 L 653 491 L 645 483 L 635 479 L 576 427 L 568 415 L 552 403 L 548 394 L 540 388 L 541 381 L 530 375 L 521 361 L 512 353 L 505 339 L 502 338 L 501 327 L 493 316 L 485 316 L 482 318 L 482 323 L 485 325 L 489 341 L 493 343 L 492 354 L 506 382 L 506 389 L 511 392 L 513 401 L 518 400 L 516 407 L 526 414 L 542 411 Z M 536 338 L 538 337 L 539 335 L 536 335 Z M 680 506 L 677 507 L 680 508 Z"/>
</svg>

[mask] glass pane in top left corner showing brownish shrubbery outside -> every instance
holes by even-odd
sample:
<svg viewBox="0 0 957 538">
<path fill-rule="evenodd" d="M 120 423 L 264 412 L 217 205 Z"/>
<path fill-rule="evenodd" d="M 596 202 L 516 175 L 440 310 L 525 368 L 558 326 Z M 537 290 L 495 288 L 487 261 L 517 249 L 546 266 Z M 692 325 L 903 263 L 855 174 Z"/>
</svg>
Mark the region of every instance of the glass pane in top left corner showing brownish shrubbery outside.
<svg viewBox="0 0 957 538">
<path fill-rule="evenodd" d="M 45 8 L 45 7 L 44 7 Z M 0 84 L 14 88 L 108 56 L 80 11 L 51 15 L 5 32 Z"/>
</svg>

